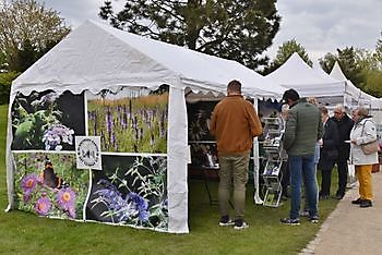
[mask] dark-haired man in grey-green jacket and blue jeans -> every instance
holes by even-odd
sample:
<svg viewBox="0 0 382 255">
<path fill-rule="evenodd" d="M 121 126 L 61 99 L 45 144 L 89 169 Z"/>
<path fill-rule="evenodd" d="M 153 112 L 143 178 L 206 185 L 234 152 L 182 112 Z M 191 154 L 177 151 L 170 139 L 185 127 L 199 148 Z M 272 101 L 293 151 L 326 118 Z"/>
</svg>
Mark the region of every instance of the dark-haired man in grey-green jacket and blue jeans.
<svg viewBox="0 0 382 255">
<path fill-rule="evenodd" d="M 280 223 L 300 224 L 302 180 L 308 192 L 309 218 L 319 221 L 318 186 L 315 182 L 314 149 L 322 138 L 323 125 L 319 108 L 301 98 L 295 89 L 283 95 L 283 102 L 289 105 L 289 114 L 284 134 L 284 148 L 288 154 L 290 171 L 290 211 Z"/>
</svg>

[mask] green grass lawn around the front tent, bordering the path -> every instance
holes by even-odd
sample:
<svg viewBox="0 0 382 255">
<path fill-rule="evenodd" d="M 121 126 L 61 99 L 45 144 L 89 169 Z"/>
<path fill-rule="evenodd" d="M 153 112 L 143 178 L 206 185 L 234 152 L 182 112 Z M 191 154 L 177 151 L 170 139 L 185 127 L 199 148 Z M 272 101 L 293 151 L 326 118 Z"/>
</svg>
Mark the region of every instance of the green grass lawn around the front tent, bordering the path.
<svg viewBox="0 0 382 255">
<path fill-rule="evenodd" d="M 0 254 L 296 254 L 314 238 L 337 204 L 334 199 L 320 202 L 319 224 L 301 219 L 301 226 L 282 226 L 278 219 L 288 215 L 289 201 L 278 208 L 254 205 L 253 186 L 249 185 L 246 219 L 250 228 L 235 231 L 218 227 L 218 208 L 208 205 L 203 182 L 190 181 L 190 234 L 4 212 L 7 114 L 8 106 L 0 106 Z M 217 183 L 212 182 L 211 187 L 216 197 Z M 335 184 L 332 191 L 336 191 Z"/>
</svg>

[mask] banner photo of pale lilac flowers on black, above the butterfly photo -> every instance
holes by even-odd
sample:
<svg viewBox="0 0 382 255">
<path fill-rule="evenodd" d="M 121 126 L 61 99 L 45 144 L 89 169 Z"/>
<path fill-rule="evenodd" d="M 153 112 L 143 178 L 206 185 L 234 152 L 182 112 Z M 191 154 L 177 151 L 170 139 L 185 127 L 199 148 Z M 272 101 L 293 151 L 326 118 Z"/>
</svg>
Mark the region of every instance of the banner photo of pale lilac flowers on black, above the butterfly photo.
<svg viewBox="0 0 382 255">
<path fill-rule="evenodd" d="M 13 150 L 74 150 L 84 135 L 84 97 L 52 90 L 17 94 L 12 105 Z"/>
</svg>

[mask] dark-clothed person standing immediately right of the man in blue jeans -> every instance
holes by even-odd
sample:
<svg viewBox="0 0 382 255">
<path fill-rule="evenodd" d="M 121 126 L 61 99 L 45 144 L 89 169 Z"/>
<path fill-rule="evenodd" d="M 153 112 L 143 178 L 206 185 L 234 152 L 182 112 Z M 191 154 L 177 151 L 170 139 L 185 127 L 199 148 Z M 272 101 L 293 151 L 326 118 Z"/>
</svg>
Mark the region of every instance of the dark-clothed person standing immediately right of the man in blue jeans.
<svg viewBox="0 0 382 255">
<path fill-rule="evenodd" d="M 320 199 L 327 199 L 331 195 L 332 169 L 335 160 L 338 158 L 338 130 L 336 123 L 329 118 L 326 107 L 320 107 L 320 112 L 324 126 L 319 161 L 322 177 Z"/>
</svg>

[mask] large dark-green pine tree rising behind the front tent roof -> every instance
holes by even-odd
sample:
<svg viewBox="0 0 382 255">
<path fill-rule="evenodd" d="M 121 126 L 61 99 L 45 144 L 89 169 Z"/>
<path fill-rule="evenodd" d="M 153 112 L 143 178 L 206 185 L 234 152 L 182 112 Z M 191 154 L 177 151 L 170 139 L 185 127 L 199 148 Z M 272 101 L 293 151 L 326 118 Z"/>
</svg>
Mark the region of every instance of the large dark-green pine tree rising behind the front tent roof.
<svg viewBox="0 0 382 255">
<path fill-rule="evenodd" d="M 111 1 L 99 16 L 115 27 L 189 49 L 236 60 L 255 69 L 260 54 L 279 29 L 276 0 L 130 0 L 114 12 Z"/>
</svg>

